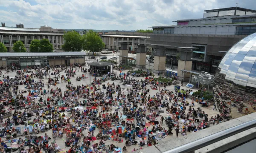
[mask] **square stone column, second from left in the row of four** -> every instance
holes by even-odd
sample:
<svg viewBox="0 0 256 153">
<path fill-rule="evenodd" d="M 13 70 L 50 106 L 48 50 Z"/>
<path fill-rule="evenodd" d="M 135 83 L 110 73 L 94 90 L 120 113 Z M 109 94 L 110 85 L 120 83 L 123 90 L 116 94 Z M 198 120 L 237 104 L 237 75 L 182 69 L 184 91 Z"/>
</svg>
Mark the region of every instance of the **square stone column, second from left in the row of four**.
<svg viewBox="0 0 256 153">
<path fill-rule="evenodd" d="M 146 45 L 137 44 L 136 68 L 146 68 Z"/>
</svg>

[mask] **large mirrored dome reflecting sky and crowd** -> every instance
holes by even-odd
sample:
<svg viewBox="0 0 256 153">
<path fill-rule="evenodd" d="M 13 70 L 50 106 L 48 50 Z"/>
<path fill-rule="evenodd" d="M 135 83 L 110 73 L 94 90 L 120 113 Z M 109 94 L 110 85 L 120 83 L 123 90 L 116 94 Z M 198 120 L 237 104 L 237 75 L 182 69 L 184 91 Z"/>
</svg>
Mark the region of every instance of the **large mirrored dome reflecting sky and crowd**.
<svg viewBox="0 0 256 153">
<path fill-rule="evenodd" d="M 225 121 L 256 112 L 256 33 L 237 42 L 221 59 L 213 94 Z"/>
</svg>

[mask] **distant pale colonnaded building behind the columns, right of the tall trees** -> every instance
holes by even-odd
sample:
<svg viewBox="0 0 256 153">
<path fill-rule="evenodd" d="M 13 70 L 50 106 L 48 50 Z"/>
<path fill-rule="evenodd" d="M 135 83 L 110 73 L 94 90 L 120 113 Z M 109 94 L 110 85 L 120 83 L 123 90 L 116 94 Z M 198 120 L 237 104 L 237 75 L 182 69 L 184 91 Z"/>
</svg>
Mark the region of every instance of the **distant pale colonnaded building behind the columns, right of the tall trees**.
<svg viewBox="0 0 256 153">
<path fill-rule="evenodd" d="M 137 52 L 137 43 L 148 43 L 150 38 L 147 33 L 120 31 L 110 31 L 108 34 L 102 34 L 101 37 L 105 43 L 105 48 L 111 50 L 120 49 L 120 42 L 128 42 L 129 52 Z"/>
</svg>

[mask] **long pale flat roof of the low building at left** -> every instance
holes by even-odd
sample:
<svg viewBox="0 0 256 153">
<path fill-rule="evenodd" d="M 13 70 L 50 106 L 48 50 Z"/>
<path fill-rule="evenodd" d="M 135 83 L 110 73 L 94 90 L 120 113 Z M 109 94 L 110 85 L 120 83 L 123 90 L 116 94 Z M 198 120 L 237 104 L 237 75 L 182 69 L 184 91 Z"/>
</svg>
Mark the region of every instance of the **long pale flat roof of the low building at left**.
<svg viewBox="0 0 256 153">
<path fill-rule="evenodd" d="M 85 56 L 85 52 L 65 51 L 65 52 L 29 52 L 29 53 L 0 53 L 0 57 L 39 57 L 39 56 Z"/>
</svg>

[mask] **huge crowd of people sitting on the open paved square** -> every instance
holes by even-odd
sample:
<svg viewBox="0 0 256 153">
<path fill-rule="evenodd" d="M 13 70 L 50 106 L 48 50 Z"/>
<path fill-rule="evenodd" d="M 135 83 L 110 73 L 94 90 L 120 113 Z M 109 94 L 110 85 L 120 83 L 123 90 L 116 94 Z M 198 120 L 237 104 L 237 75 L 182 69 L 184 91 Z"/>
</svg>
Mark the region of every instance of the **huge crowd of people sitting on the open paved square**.
<svg viewBox="0 0 256 153">
<path fill-rule="evenodd" d="M 97 72 L 79 64 L 33 66 L 3 76 L 0 153 L 130 152 L 173 132 L 186 135 L 222 121 L 195 108 L 196 101 L 187 99 L 190 90 L 173 85 L 168 90 L 169 83 L 155 81 L 149 72 L 136 79 L 119 71 L 94 75 L 92 85 L 86 76 Z"/>
</svg>

